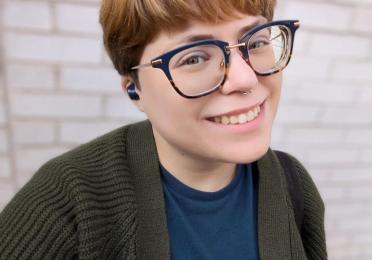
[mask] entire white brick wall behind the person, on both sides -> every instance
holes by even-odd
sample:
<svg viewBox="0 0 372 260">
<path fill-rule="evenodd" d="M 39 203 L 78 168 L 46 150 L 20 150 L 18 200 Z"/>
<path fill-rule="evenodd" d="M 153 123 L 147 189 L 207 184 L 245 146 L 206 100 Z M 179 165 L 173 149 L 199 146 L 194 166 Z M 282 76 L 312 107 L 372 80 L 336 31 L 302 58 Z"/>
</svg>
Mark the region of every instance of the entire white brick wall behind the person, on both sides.
<svg viewBox="0 0 372 260">
<path fill-rule="evenodd" d="M 144 118 L 102 47 L 99 0 L 0 1 L 0 210 L 49 158 Z M 278 1 L 298 18 L 273 147 L 326 204 L 329 259 L 372 259 L 372 1 Z"/>
</svg>

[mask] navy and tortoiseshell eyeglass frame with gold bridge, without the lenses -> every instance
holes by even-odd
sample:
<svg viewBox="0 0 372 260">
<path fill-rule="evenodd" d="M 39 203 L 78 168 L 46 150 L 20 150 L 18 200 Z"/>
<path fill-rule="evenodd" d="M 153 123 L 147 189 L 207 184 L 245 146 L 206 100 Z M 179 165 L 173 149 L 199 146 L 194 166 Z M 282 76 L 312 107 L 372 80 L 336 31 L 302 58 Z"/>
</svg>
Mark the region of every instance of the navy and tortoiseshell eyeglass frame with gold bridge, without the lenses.
<svg viewBox="0 0 372 260">
<path fill-rule="evenodd" d="M 192 42 L 192 43 L 189 43 L 189 44 L 185 44 L 183 46 L 180 46 L 180 47 L 177 47 L 173 50 L 170 50 L 166 53 L 163 53 L 162 55 L 152 59 L 149 63 L 139 64 L 137 66 L 131 67 L 130 72 L 134 72 L 138 69 L 142 69 L 142 68 L 145 68 L 145 67 L 153 67 L 153 68 L 161 69 L 164 72 L 167 79 L 169 80 L 169 82 L 171 83 L 173 89 L 179 95 L 181 95 L 184 98 L 188 98 L 188 99 L 203 97 L 203 96 L 211 94 L 212 92 L 216 91 L 217 89 L 221 88 L 224 85 L 224 83 L 226 81 L 226 78 L 227 78 L 227 75 L 228 75 L 228 70 L 229 70 L 229 63 L 230 63 L 229 58 L 230 58 L 230 54 L 231 54 L 231 49 L 239 48 L 240 52 L 243 55 L 242 58 L 244 58 L 246 61 L 249 61 L 249 51 L 248 51 L 247 43 L 249 42 L 250 38 L 256 32 L 258 32 L 258 31 L 260 31 L 260 30 L 262 30 L 266 27 L 271 27 L 271 26 L 276 26 L 276 25 L 285 26 L 287 29 L 289 29 L 289 32 L 291 34 L 290 35 L 291 37 L 289 38 L 290 39 L 290 43 L 289 43 L 290 50 L 289 50 L 287 61 L 285 62 L 285 64 L 283 64 L 280 68 L 275 69 L 273 71 L 269 71 L 267 73 L 260 73 L 260 72 L 257 72 L 251 65 L 249 65 L 247 63 L 247 65 L 252 68 L 252 70 L 256 73 L 256 75 L 258 75 L 258 76 L 270 76 L 270 75 L 273 75 L 275 73 L 278 73 L 278 72 L 282 71 L 283 69 L 285 69 L 285 67 L 287 67 L 287 65 L 288 65 L 288 63 L 289 63 L 289 61 L 292 57 L 294 36 L 295 36 L 296 30 L 300 27 L 300 21 L 299 20 L 278 20 L 278 21 L 272 21 L 272 22 L 269 22 L 269 23 L 265 23 L 265 24 L 256 26 L 256 27 L 250 29 L 249 31 L 247 31 L 246 33 L 244 33 L 239 38 L 238 43 L 233 44 L 233 45 L 230 45 L 228 42 L 221 41 L 221 40 L 216 40 L 216 39 L 201 40 L 201 41 L 195 41 L 195 42 Z M 171 75 L 170 70 L 169 70 L 169 62 L 173 58 L 173 56 L 176 55 L 177 53 L 179 53 L 183 50 L 195 47 L 195 46 L 202 46 L 202 45 L 215 45 L 215 46 L 217 46 L 221 49 L 221 51 L 224 54 L 224 76 L 223 76 L 223 79 L 221 80 L 221 83 L 217 84 L 215 87 L 213 87 L 213 88 L 211 88 L 207 91 L 201 92 L 200 94 L 197 94 L 197 95 L 193 95 L 193 96 L 186 95 L 174 83 L 174 80 L 173 80 L 172 75 Z"/>
</svg>

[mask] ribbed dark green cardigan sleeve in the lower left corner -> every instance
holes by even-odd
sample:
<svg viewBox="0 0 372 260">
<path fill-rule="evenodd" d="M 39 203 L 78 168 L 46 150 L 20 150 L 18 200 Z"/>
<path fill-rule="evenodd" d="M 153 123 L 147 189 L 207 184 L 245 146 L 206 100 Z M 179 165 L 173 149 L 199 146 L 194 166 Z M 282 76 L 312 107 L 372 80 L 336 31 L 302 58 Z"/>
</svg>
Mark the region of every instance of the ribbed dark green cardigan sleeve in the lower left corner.
<svg viewBox="0 0 372 260">
<path fill-rule="evenodd" d="M 0 213 L 1 260 L 76 258 L 73 210 L 55 169 L 44 165 Z"/>
</svg>

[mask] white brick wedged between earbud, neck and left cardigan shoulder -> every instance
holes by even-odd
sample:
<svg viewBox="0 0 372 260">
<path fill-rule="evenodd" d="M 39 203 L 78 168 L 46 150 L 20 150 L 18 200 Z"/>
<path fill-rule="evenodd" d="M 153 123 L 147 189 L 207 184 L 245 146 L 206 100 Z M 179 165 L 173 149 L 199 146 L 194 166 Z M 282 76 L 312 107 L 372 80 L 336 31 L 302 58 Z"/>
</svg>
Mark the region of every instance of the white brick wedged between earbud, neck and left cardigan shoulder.
<svg viewBox="0 0 372 260">
<path fill-rule="evenodd" d="M 105 111 L 106 116 L 109 118 L 122 118 L 126 120 L 125 123 L 146 118 L 146 115 L 139 111 L 133 102 L 125 95 L 122 97 L 109 98 Z"/>
</svg>

